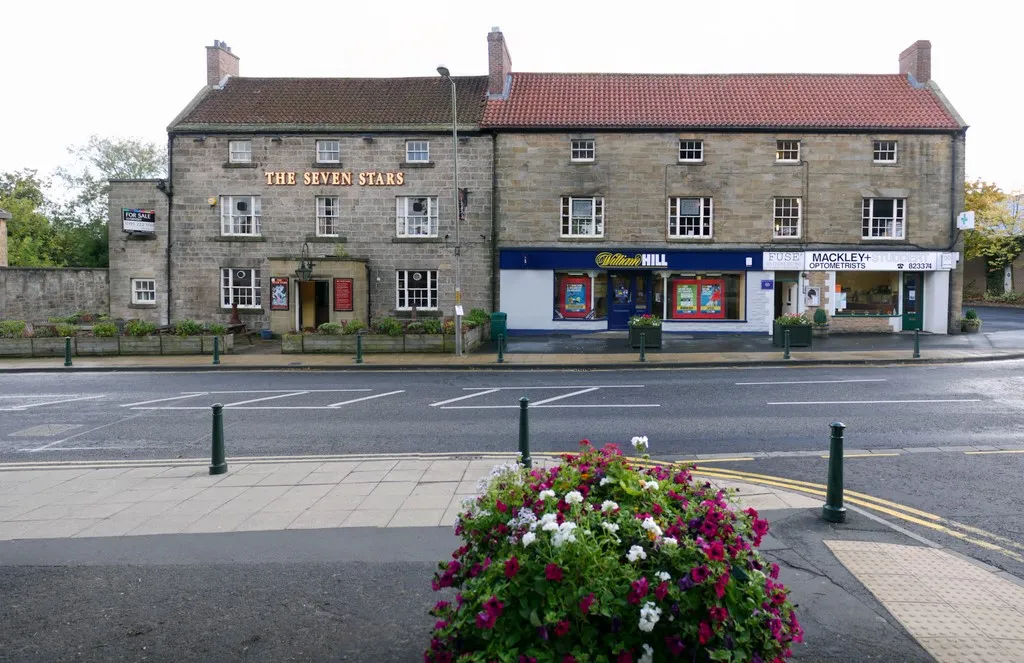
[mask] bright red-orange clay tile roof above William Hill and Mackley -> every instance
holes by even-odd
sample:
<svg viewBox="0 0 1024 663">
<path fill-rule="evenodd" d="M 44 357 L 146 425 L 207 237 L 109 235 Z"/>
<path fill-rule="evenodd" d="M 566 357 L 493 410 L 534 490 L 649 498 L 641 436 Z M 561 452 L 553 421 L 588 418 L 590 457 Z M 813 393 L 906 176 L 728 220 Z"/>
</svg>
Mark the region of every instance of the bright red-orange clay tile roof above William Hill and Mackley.
<svg viewBox="0 0 1024 663">
<path fill-rule="evenodd" d="M 512 74 L 490 128 L 957 129 L 927 88 L 892 75 Z"/>
</svg>

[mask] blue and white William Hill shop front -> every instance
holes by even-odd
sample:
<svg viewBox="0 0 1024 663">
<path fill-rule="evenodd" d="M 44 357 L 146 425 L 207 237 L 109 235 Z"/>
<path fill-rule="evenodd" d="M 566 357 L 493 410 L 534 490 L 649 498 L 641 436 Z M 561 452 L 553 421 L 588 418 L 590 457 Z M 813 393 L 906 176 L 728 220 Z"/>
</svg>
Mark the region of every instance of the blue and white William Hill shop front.
<svg viewBox="0 0 1024 663">
<path fill-rule="evenodd" d="M 626 330 L 642 315 L 666 332 L 771 331 L 760 251 L 504 249 L 500 267 L 510 332 Z"/>
</svg>

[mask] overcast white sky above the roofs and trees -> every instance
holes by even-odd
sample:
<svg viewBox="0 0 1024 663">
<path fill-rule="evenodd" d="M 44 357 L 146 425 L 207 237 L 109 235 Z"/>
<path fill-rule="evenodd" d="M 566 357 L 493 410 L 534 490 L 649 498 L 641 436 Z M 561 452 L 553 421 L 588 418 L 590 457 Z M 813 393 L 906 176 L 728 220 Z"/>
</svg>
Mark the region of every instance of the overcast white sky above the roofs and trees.
<svg viewBox="0 0 1024 663">
<path fill-rule="evenodd" d="M 1009 191 L 1024 188 L 1022 17 L 995 0 L 18 2 L 0 24 L 0 171 L 47 173 L 92 133 L 165 142 L 214 39 L 243 76 L 477 75 L 500 26 L 520 72 L 884 74 L 929 39 L 971 125 L 968 177 Z"/>
</svg>

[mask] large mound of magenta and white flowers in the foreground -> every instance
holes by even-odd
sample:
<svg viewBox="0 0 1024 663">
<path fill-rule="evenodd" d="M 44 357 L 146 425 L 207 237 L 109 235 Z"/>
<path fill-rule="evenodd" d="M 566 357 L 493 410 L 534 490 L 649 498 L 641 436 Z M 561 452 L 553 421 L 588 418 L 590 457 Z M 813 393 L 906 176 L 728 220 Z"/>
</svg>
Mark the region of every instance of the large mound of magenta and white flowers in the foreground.
<svg viewBox="0 0 1024 663">
<path fill-rule="evenodd" d="M 646 439 L 635 439 L 645 448 Z M 803 630 L 768 524 L 688 468 L 584 441 L 560 467 L 496 467 L 441 563 L 426 661 L 780 661 Z M 645 451 L 645 449 L 644 449 Z"/>
</svg>

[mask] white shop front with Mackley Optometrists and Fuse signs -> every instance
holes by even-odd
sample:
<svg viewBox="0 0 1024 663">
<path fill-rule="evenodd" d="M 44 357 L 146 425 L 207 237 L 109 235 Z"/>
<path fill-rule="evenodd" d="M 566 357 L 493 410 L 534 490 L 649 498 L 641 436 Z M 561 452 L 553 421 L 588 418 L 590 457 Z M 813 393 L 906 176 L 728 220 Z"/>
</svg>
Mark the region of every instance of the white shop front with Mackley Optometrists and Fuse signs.
<svg viewBox="0 0 1024 663">
<path fill-rule="evenodd" d="M 865 331 L 947 331 L 949 274 L 958 253 L 840 248 L 766 251 L 775 315 L 823 308 L 837 326 Z M 854 322 L 862 321 L 862 322 Z"/>
</svg>

